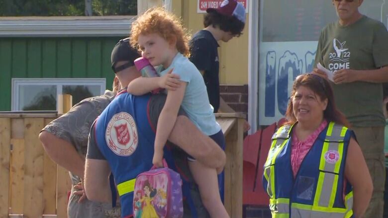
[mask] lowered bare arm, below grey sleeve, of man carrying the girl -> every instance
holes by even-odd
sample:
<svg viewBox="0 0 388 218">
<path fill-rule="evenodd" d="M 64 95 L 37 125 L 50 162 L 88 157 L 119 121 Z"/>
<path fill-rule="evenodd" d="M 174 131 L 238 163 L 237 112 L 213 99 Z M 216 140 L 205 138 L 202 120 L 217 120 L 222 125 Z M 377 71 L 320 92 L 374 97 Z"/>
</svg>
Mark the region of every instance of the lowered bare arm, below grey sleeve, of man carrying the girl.
<svg viewBox="0 0 388 218">
<path fill-rule="evenodd" d="M 109 186 L 110 168 L 106 160 L 86 159 L 85 192 L 88 199 L 97 202 L 112 202 Z"/>
</svg>

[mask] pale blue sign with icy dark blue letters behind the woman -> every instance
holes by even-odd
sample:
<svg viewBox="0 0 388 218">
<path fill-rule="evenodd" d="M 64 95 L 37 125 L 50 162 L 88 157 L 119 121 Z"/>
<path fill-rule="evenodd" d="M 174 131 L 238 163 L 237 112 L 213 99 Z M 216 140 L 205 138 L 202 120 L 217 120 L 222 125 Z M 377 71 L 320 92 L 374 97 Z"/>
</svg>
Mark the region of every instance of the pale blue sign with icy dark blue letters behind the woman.
<svg viewBox="0 0 388 218">
<path fill-rule="evenodd" d="M 314 68 L 316 41 L 262 42 L 259 56 L 259 125 L 283 118 L 293 80 Z"/>
</svg>

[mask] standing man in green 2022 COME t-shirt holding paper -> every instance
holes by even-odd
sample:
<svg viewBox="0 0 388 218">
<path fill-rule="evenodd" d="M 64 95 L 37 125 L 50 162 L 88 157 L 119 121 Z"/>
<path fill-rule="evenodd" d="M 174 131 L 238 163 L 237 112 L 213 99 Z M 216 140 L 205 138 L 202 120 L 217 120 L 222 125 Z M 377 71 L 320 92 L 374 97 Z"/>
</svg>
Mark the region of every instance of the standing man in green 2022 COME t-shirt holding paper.
<svg viewBox="0 0 388 218">
<path fill-rule="evenodd" d="M 332 0 L 339 20 L 322 30 L 315 66 L 320 63 L 334 72 L 335 103 L 352 125 L 374 182 L 365 217 L 383 218 L 386 122 L 382 82 L 388 81 L 388 33 L 383 23 L 359 12 L 362 2 Z M 314 73 L 327 78 L 321 70 L 314 69 Z"/>
</svg>

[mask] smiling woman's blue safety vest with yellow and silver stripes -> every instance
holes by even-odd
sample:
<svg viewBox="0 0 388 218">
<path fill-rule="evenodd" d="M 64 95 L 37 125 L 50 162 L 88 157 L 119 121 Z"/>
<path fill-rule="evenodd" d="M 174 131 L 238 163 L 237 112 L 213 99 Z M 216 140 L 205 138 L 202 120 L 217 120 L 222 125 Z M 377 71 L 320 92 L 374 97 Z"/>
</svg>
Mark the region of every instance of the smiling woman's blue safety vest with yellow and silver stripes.
<svg viewBox="0 0 388 218">
<path fill-rule="evenodd" d="M 353 217 L 352 186 L 347 182 L 345 192 L 343 188 L 352 132 L 330 122 L 302 160 L 294 178 L 291 129 L 283 126 L 274 134 L 264 166 L 263 187 L 270 196 L 272 217 Z"/>
</svg>

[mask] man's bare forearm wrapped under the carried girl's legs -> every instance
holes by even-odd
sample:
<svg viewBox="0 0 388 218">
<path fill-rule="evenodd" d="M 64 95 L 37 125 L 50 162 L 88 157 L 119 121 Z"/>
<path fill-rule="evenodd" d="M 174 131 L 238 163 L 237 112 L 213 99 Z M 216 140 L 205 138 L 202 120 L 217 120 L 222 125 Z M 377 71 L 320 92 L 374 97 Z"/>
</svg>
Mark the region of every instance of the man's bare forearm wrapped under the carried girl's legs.
<svg viewBox="0 0 388 218">
<path fill-rule="evenodd" d="M 169 141 L 208 167 L 222 169 L 225 165 L 225 152 L 186 116 L 178 116 Z"/>
</svg>

